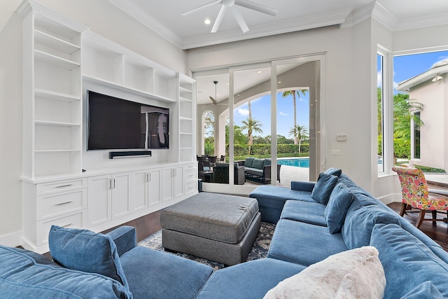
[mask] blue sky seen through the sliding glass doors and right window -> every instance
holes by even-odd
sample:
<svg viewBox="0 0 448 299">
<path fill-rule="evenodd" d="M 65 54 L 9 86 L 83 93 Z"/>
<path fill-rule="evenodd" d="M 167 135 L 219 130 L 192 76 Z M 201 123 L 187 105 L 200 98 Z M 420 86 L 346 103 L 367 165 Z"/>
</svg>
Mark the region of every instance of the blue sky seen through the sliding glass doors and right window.
<svg viewBox="0 0 448 299">
<path fill-rule="evenodd" d="M 393 85 L 394 87 L 409 78 L 417 76 L 427 71 L 433 64 L 448 59 L 448 51 L 422 53 L 414 55 L 395 56 L 393 59 Z M 309 128 L 309 92 L 304 96 L 296 97 L 297 104 L 297 125 L 305 125 Z M 277 95 L 277 134 L 286 138 L 292 138 L 289 131 L 293 127 L 293 97 L 281 97 Z M 271 134 L 271 104 L 270 95 L 262 96 L 251 101 L 252 118 L 262 123 L 262 134 L 255 133 L 256 136 L 267 136 Z M 241 122 L 248 118 L 248 104 L 244 104 L 235 109 L 235 124 L 240 127 Z M 244 133 L 247 131 L 244 130 Z"/>
</svg>

